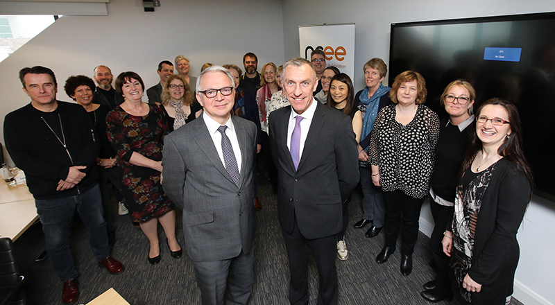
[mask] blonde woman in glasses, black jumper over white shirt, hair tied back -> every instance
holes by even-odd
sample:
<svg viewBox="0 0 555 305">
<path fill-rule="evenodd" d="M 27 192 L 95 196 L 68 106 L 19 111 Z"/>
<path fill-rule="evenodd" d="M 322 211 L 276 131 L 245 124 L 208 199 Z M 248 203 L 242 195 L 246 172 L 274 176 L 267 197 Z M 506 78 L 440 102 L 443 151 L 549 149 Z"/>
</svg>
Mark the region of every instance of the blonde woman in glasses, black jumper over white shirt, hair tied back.
<svg viewBox="0 0 555 305">
<path fill-rule="evenodd" d="M 472 130 L 474 115 L 472 105 L 476 92 L 466 80 L 450 82 L 441 103 L 448 117 L 441 120 L 438 143 L 436 145 L 436 165 L 429 179 L 430 209 L 436 223 L 429 247 L 434 256 L 436 279 L 424 284 L 420 295 L 430 302 L 439 302 L 453 296 L 449 282 L 449 256 L 443 253 L 443 232 L 447 222 L 452 220 L 455 201 L 456 176 L 463 163 L 468 146 L 468 135 Z"/>
</svg>

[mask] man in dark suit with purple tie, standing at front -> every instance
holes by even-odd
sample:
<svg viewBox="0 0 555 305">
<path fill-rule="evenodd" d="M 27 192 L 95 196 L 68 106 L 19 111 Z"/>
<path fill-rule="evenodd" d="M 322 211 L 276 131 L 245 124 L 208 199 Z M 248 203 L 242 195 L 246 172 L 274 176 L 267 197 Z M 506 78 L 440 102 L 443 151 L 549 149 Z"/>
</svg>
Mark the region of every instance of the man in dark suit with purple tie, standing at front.
<svg viewBox="0 0 555 305">
<path fill-rule="evenodd" d="M 320 274 L 318 304 L 337 304 L 336 235 L 341 204 L 359 181 L 357 141 L 349 116 L 312 97 L 316 71 L 308 60 L 286 62 L 282 82 L 291 106 L 272 112 L 270 145 L 291 272 L 289 302 L 308 304 L 310 248 Z"/>
</svg>

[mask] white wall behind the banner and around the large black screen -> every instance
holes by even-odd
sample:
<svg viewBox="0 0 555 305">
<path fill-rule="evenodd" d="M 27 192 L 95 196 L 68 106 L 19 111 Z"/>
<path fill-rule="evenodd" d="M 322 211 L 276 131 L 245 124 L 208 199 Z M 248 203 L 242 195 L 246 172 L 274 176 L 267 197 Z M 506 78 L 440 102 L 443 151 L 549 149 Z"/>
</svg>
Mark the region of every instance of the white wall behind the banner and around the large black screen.
<svg viewBox="0 0 555 305">
<path fill-rule="evenodd" d="M 392 23 L 515 15 L 555 11 L 553 0 L 468 0 L 468 1 L 375 1 L 375 0 L 284 0 L 283 29 L 285 58 L 298 57 L 298 26 L 314 24 L 356 24 L 355 91 L 364 86 L 362 66 L 370 58 L 389 61 Z M 387 77 L 386 77 L 387 80 Z M 420 230 L 432 232 L 429 205 L 424 204 Z M 552 272 L 555 271 L 555 204 L 534 197 L 518 233 L 520 263 L 514 296 L 527 305 L 555 304 Z"/>
</svg>

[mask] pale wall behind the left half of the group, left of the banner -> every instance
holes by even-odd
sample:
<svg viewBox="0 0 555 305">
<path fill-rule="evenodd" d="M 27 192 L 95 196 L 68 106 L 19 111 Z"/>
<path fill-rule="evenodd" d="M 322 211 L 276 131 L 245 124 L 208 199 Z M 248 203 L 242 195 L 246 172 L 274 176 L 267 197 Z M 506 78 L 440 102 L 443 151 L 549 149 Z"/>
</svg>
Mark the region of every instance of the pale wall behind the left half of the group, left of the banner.
<svg viewBox="0 0 555 305">
<path fill-rule="evenodd" d="M 158 63 L 173 62 L 180 54 L 191 61 L 192 76 L 198 76 L 205 62 L 243 69 L 247 52 L 258 55 L 259 69 L 266 62 L 284 62 L 281 1 L 161 3 L 155 12 L 144 12 L 142 1 L 112 0 L 108 16 L 63 16 L 0 62 L 2 122 L 6 114 L 29 103 L 18 72 L 37 64 L 56 73 L 58 99 L 71 101 L 63 90 L 65 80 L 77 74 L 92 77 L 99 64 L 110 67 L 114 78 L 122 71 L 135 71 L 148 88 L 160 81 Z"/>
</svg>

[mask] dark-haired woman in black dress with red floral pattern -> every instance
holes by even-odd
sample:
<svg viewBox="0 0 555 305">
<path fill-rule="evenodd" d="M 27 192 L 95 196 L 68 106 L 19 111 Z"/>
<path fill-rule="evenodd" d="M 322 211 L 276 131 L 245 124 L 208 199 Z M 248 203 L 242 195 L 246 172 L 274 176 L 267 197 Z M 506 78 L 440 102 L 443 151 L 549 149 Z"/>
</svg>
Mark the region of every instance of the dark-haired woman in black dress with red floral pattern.
<svg viewBox="0 0 555 305">
<path fill-rule="evenodd" d="M 182 254 L 176 240 L 176 207 L 164 194 L 160 177 L 163 139 L 169 126 L 160 106 L 142 102 L 144 83 L 137 73 L 121 73 L 115 88 L 125 101 L 106 116 L 108 139 L 119 157 L 126 207 L 148 238 L 148 261 L 155 265 L 160 262 L 158 222 L 166 233 L 171 256 Z"/>
</svg>

